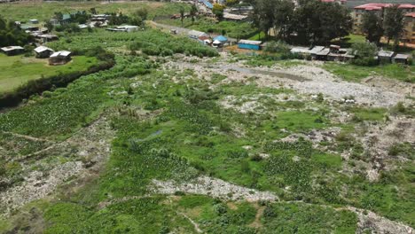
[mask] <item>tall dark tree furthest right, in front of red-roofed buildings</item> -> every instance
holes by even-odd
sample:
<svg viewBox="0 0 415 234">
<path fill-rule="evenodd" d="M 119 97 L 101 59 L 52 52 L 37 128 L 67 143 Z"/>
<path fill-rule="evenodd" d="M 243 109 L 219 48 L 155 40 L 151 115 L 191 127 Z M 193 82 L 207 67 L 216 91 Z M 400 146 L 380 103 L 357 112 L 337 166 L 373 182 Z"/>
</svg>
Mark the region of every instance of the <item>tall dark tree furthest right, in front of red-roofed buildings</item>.
<svg viewBox="0 0 415 234">
<path fill-rule="evenodd" d="M 388 43 L 390 39 L 394 40 L 395 50 L 399 45 L 399 38 L 403 34 L 403 11 L 394 4 L 385 10 L 385 17 L 383 19 L 383 28 L 385 35 L 388 36 Z"/>
</svg>

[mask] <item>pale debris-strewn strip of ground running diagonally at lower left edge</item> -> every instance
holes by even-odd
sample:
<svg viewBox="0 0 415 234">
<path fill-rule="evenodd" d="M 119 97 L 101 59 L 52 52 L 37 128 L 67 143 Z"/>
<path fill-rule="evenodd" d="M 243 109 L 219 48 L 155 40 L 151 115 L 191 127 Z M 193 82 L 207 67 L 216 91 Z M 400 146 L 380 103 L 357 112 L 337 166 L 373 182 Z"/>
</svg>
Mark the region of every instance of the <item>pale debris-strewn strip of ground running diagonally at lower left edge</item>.
<svg viewBox="0 0 415 234">
<path fill-rule="evenodd" d="M 0 191 L 0 215 L 47 197 L 75 177 L 90 176 L 109 158 L 113 137 L 114 132 L 102 116 L 67 140 L 20 158 L 22 182 Z M 51 159 L 56 155 L 60 160 Z"/>
</svg>

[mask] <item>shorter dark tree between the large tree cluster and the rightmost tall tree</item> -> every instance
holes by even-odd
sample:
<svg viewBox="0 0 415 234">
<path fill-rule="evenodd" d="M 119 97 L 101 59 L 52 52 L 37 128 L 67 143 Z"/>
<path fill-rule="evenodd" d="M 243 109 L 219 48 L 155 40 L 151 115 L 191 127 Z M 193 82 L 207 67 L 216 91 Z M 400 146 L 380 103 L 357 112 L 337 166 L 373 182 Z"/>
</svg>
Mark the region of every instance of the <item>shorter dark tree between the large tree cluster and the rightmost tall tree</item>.
<svg viewBox="0 0 415 234">
<path fill-rule="evenodd" d="M 362 32 L 371 43 L 379 44 L 383 35 L 382 20 L 375 12 L 366 12 L 362 19 Z"/>
</svg>

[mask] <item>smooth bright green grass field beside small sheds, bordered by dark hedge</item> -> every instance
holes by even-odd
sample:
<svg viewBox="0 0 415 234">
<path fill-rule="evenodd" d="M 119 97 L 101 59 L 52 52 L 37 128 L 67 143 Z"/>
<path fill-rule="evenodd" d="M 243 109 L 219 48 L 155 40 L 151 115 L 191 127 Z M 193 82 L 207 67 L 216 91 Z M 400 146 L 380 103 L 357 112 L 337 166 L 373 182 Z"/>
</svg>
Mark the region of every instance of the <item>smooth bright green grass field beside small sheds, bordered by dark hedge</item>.
<svg viewBox="0 0 415 234">
<path fill-rule="evenodd" d="M 0 54 L 0 93 L 41 77 L 84 71 L 97 63 L 97 58 L 76 56 L 66 65 L 49 66 L 48 59 Z"/>
</svg>

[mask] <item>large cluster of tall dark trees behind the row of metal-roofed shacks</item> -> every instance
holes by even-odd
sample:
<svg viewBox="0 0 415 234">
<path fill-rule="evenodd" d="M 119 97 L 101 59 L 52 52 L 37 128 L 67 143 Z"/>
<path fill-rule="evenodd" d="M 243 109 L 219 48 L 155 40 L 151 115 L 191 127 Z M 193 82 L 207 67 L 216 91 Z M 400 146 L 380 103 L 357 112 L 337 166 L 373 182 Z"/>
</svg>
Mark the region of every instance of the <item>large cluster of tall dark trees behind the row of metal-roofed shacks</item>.
<svg viewBox="0 0 415 234">
<path fill-rule="evenodd" d="M 319 0 L 255 0 L 254 25 L 267 37 L 289 43 L 328 44 L 352 29 L 350 11 L 341 4 Z"/>
</svg>

